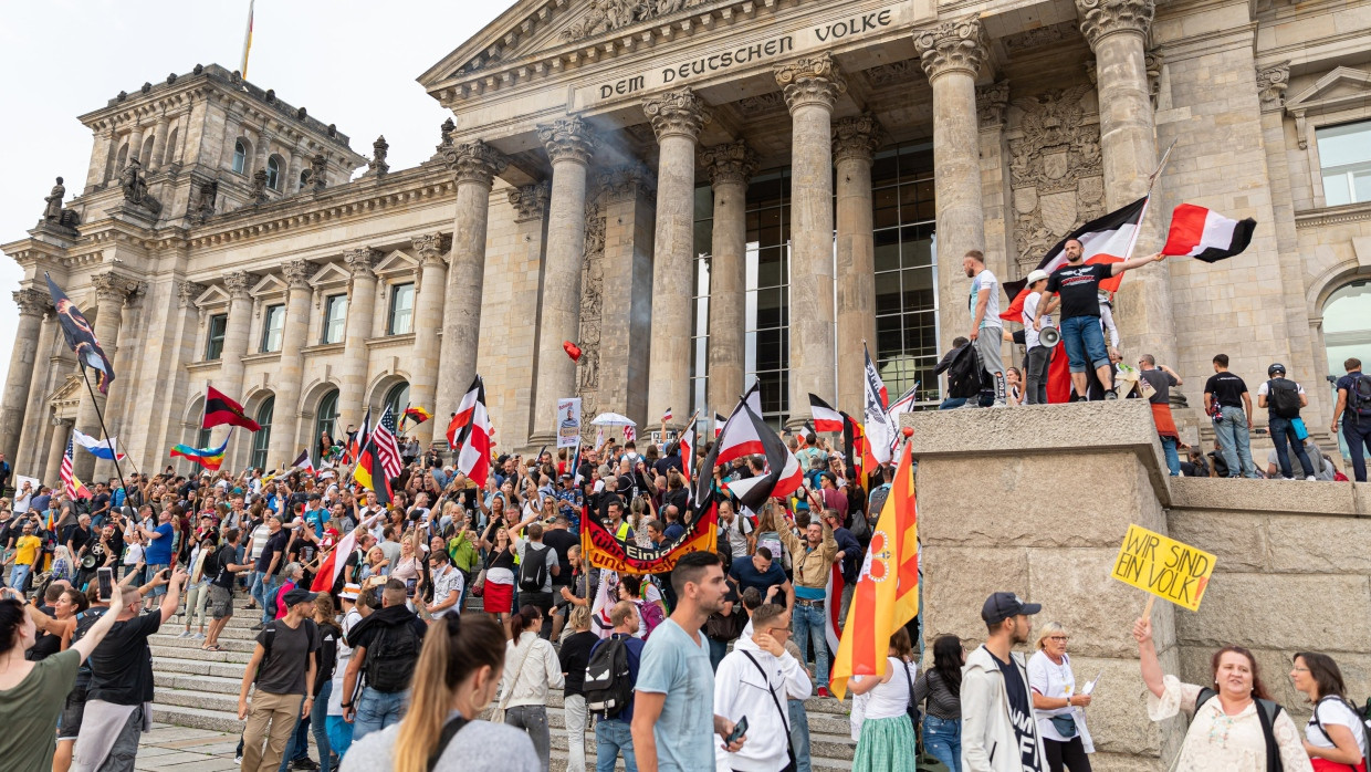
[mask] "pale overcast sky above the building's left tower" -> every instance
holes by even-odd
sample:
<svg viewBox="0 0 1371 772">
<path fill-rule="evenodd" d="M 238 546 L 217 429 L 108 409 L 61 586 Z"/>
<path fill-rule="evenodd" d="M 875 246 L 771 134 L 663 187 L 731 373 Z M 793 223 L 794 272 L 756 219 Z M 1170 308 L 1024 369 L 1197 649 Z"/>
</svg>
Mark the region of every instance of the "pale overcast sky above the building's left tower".
<svg viewBox="0 0 1371 772">
<path fill-rule="evenodd" d="M 248 81 L 336 123 L 372 155 L 385 134 L 392 170 L 433 155 L 447 112 L 415 78 L 513 0 L 259 0 Z M 85 185 L 92 134 L 77 115 L 196 63 L 237 70 L 248 0 L 43 0 L 0 10 L 0 243 L 23 239 L 53 178 Z M 0 256 L 0 384 L 10 370 L 23 273 Z"/>
</svg>

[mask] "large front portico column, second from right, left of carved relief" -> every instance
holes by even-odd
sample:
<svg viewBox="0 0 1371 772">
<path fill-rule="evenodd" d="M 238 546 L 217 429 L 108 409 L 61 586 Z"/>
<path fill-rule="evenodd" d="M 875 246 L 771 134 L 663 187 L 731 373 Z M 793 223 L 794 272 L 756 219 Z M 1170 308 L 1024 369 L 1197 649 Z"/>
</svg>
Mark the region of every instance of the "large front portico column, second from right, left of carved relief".
<svg viewBox="0 0 1371 772">
<path fill-rule="evenodd" d="M 924 73 L 934 88 L 934 195 L 938 199 L 938 350 L 971 329 L 967 274 L 961 258 L 986 251 L 980 200 L 980 130 L 976 73 L 987 56 L 980 21 L 945 22 L 914 33 Z"/>
</svg>

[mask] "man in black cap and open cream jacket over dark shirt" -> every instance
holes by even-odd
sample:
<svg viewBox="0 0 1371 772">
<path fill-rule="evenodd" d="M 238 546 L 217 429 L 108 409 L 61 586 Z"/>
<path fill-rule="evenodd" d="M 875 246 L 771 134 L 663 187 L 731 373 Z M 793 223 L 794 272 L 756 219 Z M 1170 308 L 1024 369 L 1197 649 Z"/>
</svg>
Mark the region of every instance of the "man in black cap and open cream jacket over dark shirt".
<svg viewBox="0 0 1371 772">
<path fill-rule="evenodd" d="M 1030 616 L 1042 610 L 1013 592 L 986 598 L 986 642 L 961 675 L 961 768 L 967 772 L 1046 772 L 1046 754 L 1028 698 L 1028 668 L 1013 647 L 1028 642 Z M 1017 749 L 1019 753 L 995 753 Z"/>
</svg>

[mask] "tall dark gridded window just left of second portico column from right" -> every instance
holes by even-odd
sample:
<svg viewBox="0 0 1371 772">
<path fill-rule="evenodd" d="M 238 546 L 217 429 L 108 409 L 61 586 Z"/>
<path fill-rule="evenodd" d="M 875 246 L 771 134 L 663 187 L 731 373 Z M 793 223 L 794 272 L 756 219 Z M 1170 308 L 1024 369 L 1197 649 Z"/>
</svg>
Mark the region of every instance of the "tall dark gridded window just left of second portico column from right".
<svg viewBox="0 0 1371 772">
<path fill-rule="evenodd" d="M 934 156 L 928 143 L 898 145 L 872 163 L 876 247 L 876 341 L 872 357 L 891 399 L 919 383 L 938 399 L 938 269 L 934 248 Z"/>
</svg>

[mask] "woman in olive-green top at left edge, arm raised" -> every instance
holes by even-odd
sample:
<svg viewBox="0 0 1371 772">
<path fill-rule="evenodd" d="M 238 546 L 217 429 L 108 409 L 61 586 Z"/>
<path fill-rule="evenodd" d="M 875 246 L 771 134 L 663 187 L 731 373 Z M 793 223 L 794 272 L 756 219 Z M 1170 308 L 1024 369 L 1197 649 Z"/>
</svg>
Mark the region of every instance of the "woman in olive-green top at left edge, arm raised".
<svg viewBox="0 0 1371 772">
<path fill-rule="evenodd" d="M 134 591 L 134 602 L 136 591 Z M 77 671 L 106 639 L 122 616 L 125 598 L 117 592 L 110 609 L 70 649 L 41 662 L 25 653 L 33 646 L 34 625 L 14 588 L 0 590 L 0 758 L 5 769 L 47 771 L 58 750 L 58 716 L 67 692 L 77 683 Z M 132 768 L 132 764 L 129 764 Z"/>
</svg>

